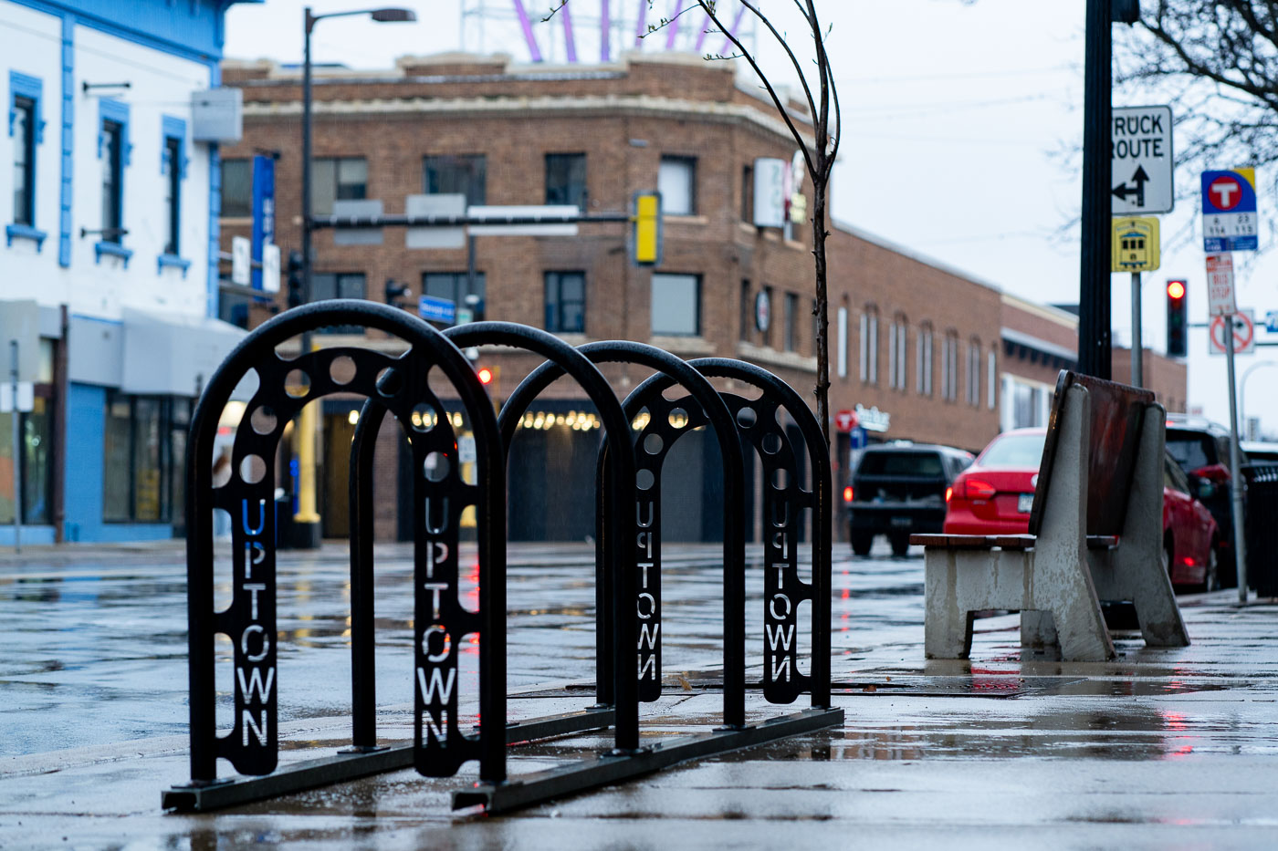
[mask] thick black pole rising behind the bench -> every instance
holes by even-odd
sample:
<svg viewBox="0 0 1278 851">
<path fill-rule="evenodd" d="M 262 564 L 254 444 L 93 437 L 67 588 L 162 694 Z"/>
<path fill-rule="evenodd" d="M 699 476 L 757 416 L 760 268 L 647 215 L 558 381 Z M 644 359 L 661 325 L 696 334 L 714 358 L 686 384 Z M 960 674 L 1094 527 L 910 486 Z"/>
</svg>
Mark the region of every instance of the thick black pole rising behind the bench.
<svg viewBox="0 0 1278 851">
<path fill-rule="evenodd" d="M 1109 201 L 1112 0 L 1088 0 L 1082 83 L 1082 258 L 1079 275 L 1079 372 L 1111 377 Z M 1135 350 L 1132 351 L 1135 355 Z"/>
</svg>

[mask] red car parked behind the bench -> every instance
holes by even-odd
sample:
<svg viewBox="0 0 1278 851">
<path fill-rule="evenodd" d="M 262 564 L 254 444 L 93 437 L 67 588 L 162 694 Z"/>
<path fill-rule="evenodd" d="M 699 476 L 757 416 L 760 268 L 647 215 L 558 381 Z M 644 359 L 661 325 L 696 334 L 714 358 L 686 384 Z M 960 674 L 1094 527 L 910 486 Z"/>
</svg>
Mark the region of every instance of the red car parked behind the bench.
<svg viewBox="0 0 1278 851">
<path fill-rule="evenodd" d="M 1025 534 L 1034 505 L 1044 428 L 1019 428 L 996 437 L 946 494 L 944 532 L 958 535 Z M 1208 487 L 1208 486 L 1204 486 Z M 1174 585 L 1220 586 L 1219 530 L 1192 496 L 1190 482 L 1163 459 L 1163 566 Z"/>
</svg>

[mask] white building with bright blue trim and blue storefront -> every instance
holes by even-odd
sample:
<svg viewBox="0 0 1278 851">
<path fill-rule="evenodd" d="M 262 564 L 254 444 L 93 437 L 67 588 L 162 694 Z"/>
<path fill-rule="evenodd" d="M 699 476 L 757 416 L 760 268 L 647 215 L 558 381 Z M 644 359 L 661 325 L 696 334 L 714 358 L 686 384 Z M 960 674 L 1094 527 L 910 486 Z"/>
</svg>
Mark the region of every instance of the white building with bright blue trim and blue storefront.
<svg viewBox="0 0 1278 851">
<path fill-rule="evenodd" d="M 217 317 L 219 88 L 235 0 L 0 0 L 0 546 L 181 533 Z M 13 428 L 19 446 L 14 452 Z M 14 477 L 20 483 L 20 505 Z"/>
</svg>

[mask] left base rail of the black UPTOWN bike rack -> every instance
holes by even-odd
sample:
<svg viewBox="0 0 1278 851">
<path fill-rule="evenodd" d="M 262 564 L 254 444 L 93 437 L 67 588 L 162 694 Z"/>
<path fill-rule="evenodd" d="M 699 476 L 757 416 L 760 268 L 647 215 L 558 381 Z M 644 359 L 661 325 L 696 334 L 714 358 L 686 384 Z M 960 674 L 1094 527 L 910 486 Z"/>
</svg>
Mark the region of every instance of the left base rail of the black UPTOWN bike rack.
<svg viewBox="0 0 1278 851">
<path fill-rule="evenodd" d="M 606 730 L 612 726 L 613 719 L 612 707 L 603 707 L 512 721 L 506 724 L 506 744 Z M 160 806 L 178 813 L 207 813 L 412 767 L 413 742 L 374 750 L 344 747 L 332 756 L 281 765 L 262 777 L 239 776 L 211 783 L 174 786 L 161 795 Z"/>
</svg>

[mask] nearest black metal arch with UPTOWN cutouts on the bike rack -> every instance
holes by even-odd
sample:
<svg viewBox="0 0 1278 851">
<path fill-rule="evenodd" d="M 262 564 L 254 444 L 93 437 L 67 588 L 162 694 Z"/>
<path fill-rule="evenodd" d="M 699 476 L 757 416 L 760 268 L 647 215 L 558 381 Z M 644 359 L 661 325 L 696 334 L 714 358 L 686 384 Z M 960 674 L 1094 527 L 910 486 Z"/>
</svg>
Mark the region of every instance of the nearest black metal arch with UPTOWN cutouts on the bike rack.
<svg viewBox="0 0 1278 851">
<path fill-rule="evenodd" d="M 409 344 L 394 358 L 358 348 L 322 349 L 284 359 L 276 346 L 304 331 L 335 325 L 362 325 Z M 420 405 L 442 411 L 427 373 L 438 368 L 458 392 L 474 427 L 478 448 L 475 484 L 459 475 L 455 441 L 446 418 L 431 428 L 414 428 Z M 219 415 L 236 385 L 249 373 L 257 391 L 245 408 L 231 450 L 230 480 L 213 487 L 213 436 Z M 330 300 L 282 313 L 250 332 L 213 373 L 196 408 L 187 461 L 187 583 L 190 675 L 190 783 L 162 796 L 176 809 L 213 809 L 227 802 L 280 795 L 366 776 L 387 754 L 354 747 L 299 770 L 276 772 L 279 762 L 275 583 L 275 454 L 285 423 L 303 405 L 332 392 L 377 399 L 396 415 L 413 451 L 414 506 L 414 746 L 413 763 L 424 774 L 451 776 L 464 762 L 478 759 L 481 777 L 506 776 L 505 733 L 481 728 L 468 735 L 458 723 L 458 662 L 468 635 L 479 636 L 479 710 L 484 718 L 506 717 L 505 613 L 505 456 L 496 415 L 469 362 L 446 337 L 420 319 L 362 300 Z M 419 417 L 420 418 L 420 417 Z M 436 464 L 427 468 L 435 454 Z M 431 473 L 437 470 L 438 473 Z M 458 521 L 475 507 L 479 534 L 479 611 L 458 599 Z M 212 511 L 231 512 L 233 602 L 213 611 Z M 498 625 L 501 627 L 498 629 Z M 215 636 L 234 647 L 234 727 L 216 731 L 213 684 Z M 498 686 L 498 687 L 495 687 Z M 220 779 L 219 758 L 242 774 L 267 778 Z M 265 782 L 263 782 L 265 781 Z"/>
</svg>

